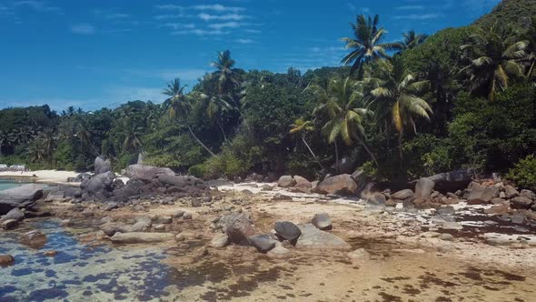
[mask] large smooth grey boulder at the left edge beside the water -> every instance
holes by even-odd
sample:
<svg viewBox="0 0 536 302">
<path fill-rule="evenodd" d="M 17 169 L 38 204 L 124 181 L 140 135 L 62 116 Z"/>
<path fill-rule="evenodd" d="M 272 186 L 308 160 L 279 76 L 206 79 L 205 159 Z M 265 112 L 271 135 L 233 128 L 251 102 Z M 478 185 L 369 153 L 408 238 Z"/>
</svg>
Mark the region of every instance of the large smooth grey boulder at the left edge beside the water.
<svg viewBox="0 0 536 302">
<path fill-rule="evenodd" d="M 0 215 L 5 215 L 13 208 L 31 208 L 43 197 L 44 185 L 30 184 L 0 191 Z"/>
</svg>

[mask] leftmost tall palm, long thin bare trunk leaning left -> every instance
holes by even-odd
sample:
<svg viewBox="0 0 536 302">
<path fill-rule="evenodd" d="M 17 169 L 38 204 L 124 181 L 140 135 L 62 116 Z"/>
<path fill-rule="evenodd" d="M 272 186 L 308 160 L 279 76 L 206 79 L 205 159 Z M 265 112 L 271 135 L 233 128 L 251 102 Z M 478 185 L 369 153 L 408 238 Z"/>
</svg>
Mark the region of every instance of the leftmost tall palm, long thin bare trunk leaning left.
<svg viewBox="0 0 536 302">
<path fill-rule="evenodd" d="M 185 88 L 186 86 L 181 86 L 181 79 L 175 78 L 173 81 L 171 81 L 167 85 L 167 88 L 165 88 L 162 92 L 163 95 L 169 96 L 169 98 L 164 101 L 164 106 L 167 107 L 169 116 L 171 118 L 183 120 L 184 125 L 188 128 L 190 134 L 194 137 L 195 141 L 197 141 L 199 145 L 203 146 L 203 148 L 211 156 L 216 156 L 213 154 L 211 149 L 209 149 L 207 146 L 204 146 L 203 142 L 201 142 L 201 140 L 194 135 L 194 131 L 188 123 L 188 115 L 190 114 L 192 104 L 190 103 L 191 97 L 184 95 Z"/>
</svg>

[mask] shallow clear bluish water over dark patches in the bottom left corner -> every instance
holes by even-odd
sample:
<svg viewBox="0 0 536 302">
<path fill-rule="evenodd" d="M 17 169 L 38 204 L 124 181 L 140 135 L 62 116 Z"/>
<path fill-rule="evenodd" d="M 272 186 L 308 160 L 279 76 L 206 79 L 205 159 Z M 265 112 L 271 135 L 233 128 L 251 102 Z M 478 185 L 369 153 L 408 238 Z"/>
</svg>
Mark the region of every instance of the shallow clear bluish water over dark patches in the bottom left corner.
<svg viewBox="0 0 536 302">
<path fill-rule="evenodd" d="M 44 247 L 25 247 L 21 234 L 39 229 Z M 0 232 L 0 254 L 15 263 L 0 267 L 0 301 L 152 301 L 170 297 L 174 269 L 161 263 L 158 247 L 91 247 L 76 240 L 89 229 L 61 227 L 39 219 L 15 231 Z M 55 250 L 55 257 L 45 251 Z M 173 286 L 172 286 L 173 288 Z"/>
</svg>

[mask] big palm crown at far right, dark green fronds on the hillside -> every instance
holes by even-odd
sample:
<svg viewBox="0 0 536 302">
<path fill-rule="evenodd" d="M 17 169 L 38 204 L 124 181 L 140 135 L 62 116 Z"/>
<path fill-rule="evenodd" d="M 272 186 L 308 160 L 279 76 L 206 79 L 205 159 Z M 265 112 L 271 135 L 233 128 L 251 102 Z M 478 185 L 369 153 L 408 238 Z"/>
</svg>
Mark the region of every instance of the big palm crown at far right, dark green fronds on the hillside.
<svg viewBox="0 0 536 302">
<path fill-rule="evenodd" d="M 469 75 L 471 93 L 485 94 L 493 101 L 498 89 L 508 88 L 510 76 L 523 76 L 521 60 L 527 57 L 528 45 L 528 41 L 512 42 L 512 36 L 497 25 L 478 28 L 461 46 L 468 61 L 462 72 Z"/>
</svg>

